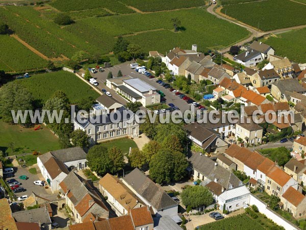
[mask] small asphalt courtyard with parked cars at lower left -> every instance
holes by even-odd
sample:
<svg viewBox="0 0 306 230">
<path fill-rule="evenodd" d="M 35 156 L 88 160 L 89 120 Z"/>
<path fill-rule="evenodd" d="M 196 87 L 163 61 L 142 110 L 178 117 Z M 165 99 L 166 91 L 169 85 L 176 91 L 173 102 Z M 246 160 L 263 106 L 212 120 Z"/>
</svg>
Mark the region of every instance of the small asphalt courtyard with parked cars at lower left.
<svg viewBox="0 0 306 230">
<path fill-rule="evenodd" d="M 10 177 L 10 178 L 6 178 L 5 180 L 8 180 L 8 179 L 16 179 L 18 182 L 22 183 L 22 185 L 20 187 L 23 187 L 24 189 L 26 189 L 27 191 L 25 192 L 21 192 L 21 193 L 16 193 L 16 197 L 19 197 L 19 196 L 23 196 L 23 195 L 28 195 L 28 196 L 31 196 L 32 195 L 32 192 L 34 192 L 36 195 L 39 195 L 41 197 L 44 197 L 46 199 L 56 199 L 57 195 L 56 194 L 52 194 L 52 192 L 50 192 L 50 189 L 45 189 L 44 186 L 37 186 L 37 185 L 34 185 L 34 181 L 35 180 L 40 180 L 39 178 L 39 174 L 31 174 L 29 172 L 29 169 L 28 168 L 21 168 L 20 166 L 18 167 L 13 167 L 14 168 L 14 177 Z M 25 175 L 28 177 L 27 180 L 22 180 L 22 179 L 19 179 L 19 176 L 21 175 Z M 47 191 L 48 190 L 48 191 Z"/>
</svg>

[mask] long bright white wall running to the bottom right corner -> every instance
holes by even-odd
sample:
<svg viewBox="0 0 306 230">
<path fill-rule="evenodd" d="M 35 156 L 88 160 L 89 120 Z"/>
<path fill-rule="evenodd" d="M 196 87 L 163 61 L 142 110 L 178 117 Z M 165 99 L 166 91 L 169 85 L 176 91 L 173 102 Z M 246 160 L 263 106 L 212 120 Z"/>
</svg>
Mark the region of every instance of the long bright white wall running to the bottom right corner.
<svg viewBox="0 0 306 230">
<path fill-rule="evenodd" d="M 253 204 L 257 206 L 260 213 L 266 215 L 269 219 L 271 219 L 276 224 L 283 226 L 286 230 L 299 230 L 299 228 L 296 227 L 294 224 L 283 219 L 281 216 L 279 216 L 272 210 L 268 209 L 267 205 L 263 201 L 257 199 L 255 196 L 250 194 L 250 205 L 253 205 Z"/>
</svg>

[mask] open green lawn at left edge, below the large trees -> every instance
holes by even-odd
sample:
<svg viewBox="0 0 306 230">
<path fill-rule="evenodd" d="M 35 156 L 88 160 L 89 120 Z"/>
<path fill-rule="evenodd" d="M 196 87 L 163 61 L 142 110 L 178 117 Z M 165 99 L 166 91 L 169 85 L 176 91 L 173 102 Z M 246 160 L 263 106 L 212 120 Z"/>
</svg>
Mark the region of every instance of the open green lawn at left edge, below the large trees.
<svg viewBox="0 0 306 230">
<path fill-rule="evenodd" d="M 10 125 L 0 120 L 0 149 L 8 155 L 40 151 L 45 153 L 60 149 L 58 138 L 50 130 L 41 125 L 42 129 L 22 128 L 19 125 Z M 14 143 L 14 152 L 8 148 L 10 142 Z M 30 157 L 30 156 L 29 156 Z"/>
</svg>

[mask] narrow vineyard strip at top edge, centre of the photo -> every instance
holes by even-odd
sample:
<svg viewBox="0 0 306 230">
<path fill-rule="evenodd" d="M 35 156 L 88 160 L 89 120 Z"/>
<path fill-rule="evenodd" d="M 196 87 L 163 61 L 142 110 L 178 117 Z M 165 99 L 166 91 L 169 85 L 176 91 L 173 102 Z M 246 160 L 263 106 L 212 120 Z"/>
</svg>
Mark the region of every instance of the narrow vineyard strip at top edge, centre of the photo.
<svg viewBox="0 0 306 230">
<path fill-rule="evenodd" d="M 205 6 L 204 0 L 123 0 L 122 2 L 144 12 Z"/>
</svg>

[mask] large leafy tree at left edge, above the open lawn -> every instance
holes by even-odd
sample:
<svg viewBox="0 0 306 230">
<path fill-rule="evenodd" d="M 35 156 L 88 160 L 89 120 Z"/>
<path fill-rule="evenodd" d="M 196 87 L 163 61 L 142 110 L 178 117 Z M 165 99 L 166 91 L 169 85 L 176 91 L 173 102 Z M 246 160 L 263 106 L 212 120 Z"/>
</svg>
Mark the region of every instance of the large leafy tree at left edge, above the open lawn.
<svg viewBox="0 0 306 230">
<path fill-rule="evenodd" d="M 27 88 L 17 82 L 10 82 L 1 87 L 0 90 L 0 117 L 4 122 L 13 123 L 11 110 L 17 113 L 18 110 L 33 109 L 33 96 Z M 21 122 L 20 120 L 18 121 Z M 28 119 L 27 124 L 30 123 Z"/>
</svg>

